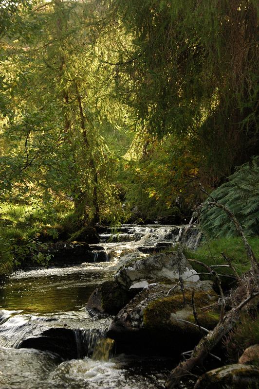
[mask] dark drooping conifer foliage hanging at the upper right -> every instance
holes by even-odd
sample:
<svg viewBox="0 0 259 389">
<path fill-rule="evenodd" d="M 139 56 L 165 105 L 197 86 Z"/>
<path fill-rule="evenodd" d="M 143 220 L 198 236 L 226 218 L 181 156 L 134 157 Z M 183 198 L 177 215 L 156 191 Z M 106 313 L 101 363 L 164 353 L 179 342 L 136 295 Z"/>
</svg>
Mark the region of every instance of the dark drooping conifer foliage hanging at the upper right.
<svg viewBox="0 0 259 389">
<path fill-rule="evenodd" d="M 203 184 L 218 185 L 258 150 L 258 4 L 111 4 L 131 38 L 117 60 L 119 97 L 134 110 L 142 133 L 185 140 L 200 157 L 193 167 Z"/>
</svg>

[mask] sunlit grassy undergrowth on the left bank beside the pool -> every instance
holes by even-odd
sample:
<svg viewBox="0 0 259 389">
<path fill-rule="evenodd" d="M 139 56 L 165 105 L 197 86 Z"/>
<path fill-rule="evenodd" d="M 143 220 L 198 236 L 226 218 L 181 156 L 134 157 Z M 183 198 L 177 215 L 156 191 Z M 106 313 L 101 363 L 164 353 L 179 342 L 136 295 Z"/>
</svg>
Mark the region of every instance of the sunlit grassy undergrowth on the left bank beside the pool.
<svg viewBox="0 0 259 389">
<path fill-rule="evenodd" d="M 0 206 L 0 276 L 26 261 L 47 265 L 51 256 L 45 241 L 56 240 L 59 224 L 68 210 L 64 204 L 40 206 L 5 204 Z"/>
</svg>

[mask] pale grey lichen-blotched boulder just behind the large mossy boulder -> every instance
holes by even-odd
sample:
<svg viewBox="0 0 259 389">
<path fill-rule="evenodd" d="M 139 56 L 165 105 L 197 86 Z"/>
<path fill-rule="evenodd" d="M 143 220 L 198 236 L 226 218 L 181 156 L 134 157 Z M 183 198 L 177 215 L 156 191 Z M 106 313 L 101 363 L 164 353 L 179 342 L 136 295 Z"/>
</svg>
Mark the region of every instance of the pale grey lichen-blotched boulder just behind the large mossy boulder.
<svg viewBox="0 0 259 389">
<path fill-rule="evenodd" d="M 179 280 L 179 275 L 183 280 L 199 280 L 184 254 L 171 252 L 151 255 L 122 266 L 115 274 L 115 281 L 129 289 L 134 283 L 142 281 L 175 282 Z"/>
</svg>

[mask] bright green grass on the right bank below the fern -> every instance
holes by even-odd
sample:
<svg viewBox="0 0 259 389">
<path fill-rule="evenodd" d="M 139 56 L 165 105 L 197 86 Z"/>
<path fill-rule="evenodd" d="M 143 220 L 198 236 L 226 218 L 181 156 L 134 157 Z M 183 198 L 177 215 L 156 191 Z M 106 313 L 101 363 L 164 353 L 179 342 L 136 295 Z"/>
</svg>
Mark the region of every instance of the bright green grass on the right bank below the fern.
<svg viewBox="0 0 259 389">
<path fill-rule="evenodd" d="M 248 238 L 255 256 L 259 258 L 259 238 L 253 237 Z M 187 258 L 197 259 L 206 265 L 227 265 L 225 259 L 221 253 L 224 253 L 228 258 L 231 259 L 233 266 L 235 267 L 238 274 L 242 274 L 248 271 L 251 267 L 251 263 L 246 256 L 243 242 L 241 238 L 221 238 L 221 239 L 210 239 L 208 242 L 203 241 L 196 251 L 185 251 Z M 197 272 L 204 272 L 204 267 L 192 263 L 192 266 Z M 216 268 L 219 274 L 232 274 L 233 271 L 229 267 Z"/>
</svg>

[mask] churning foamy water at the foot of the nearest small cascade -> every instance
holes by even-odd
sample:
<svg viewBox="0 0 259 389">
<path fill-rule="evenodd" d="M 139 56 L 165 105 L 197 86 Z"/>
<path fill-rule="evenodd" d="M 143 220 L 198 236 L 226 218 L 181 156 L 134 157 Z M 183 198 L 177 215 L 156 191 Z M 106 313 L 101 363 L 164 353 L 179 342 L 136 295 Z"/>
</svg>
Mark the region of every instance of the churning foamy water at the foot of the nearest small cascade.
<svg viewBox="0 0 259 389">
<path fill-rule="evenodd" d="M 62 362 L 57 355 L 48 352 L 0 347 L 0 360 L 1 389 L 163 388 L 161 377 L 131 374 L 127 369 L 118 368 L 115 359 Z"/>
</svg>

